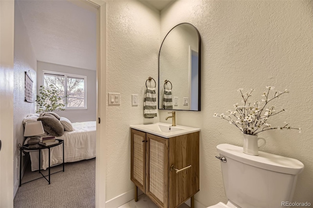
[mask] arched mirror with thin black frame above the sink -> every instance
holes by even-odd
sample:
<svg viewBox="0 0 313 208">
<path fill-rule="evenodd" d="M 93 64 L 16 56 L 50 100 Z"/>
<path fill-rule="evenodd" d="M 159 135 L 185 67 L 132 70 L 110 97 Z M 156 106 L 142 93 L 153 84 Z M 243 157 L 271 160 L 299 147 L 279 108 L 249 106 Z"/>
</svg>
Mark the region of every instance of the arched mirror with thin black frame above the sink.
<svg viewBox="0 0 313 208">
<path fill-rule="evenodd" d="M 158 56 L 158 109 L 200 111 L 201 37 L 190 23 L 165 36 Z"/>
</svg>

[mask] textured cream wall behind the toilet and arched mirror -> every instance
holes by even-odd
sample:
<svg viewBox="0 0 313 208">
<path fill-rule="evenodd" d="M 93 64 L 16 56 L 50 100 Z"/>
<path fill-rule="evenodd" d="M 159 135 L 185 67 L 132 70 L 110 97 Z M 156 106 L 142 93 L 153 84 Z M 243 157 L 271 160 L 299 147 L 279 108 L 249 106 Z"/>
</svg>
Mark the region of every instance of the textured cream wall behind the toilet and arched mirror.
<svg viewBox="0 0 313 208">
<path fill-rule="evenodd" d="M 260 133 L 267 140 L 261 150 L 300 160 L 293 201 L 313 204 L 313 1 L 185 1 L 161 11 L 161 37 L 180 22 L 195 25 L 202 40 L 201 112 L 177 112 L 177 124 L 201 128 L 200 192 L 205 206 L 226 203 L 216 146 L 243 146 L 240 131 L 213 117 L 240 103 L 236 91 L 254 88 L 259 100 L 265 86 L 290 90 L 272 103 L 287 112 L 268 122 L 286 121 L 297 130 Z M 159 110 L 165 122 L 167 110 Z M 167 121 L 168 123 L 170 121 Z"/>
</svg>

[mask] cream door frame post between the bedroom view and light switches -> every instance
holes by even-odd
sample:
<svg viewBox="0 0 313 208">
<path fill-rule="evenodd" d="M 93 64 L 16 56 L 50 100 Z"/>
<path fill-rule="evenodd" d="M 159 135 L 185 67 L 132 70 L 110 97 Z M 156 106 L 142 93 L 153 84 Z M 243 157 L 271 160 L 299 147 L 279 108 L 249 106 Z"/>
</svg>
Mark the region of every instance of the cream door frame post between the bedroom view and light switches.
<svg viewBox="0 0 313 208">
<path fill-rule="evenodd" d="M 96 140 L 96 182 L 95 207 L 106 207 L 106 92 L 107 92 L 107 54 L 106 54 L 106 2 L 87 0 L 97 7 L 97 140 Z M 101 139 L 103 138 L 103 139 Z"/>
</svg>

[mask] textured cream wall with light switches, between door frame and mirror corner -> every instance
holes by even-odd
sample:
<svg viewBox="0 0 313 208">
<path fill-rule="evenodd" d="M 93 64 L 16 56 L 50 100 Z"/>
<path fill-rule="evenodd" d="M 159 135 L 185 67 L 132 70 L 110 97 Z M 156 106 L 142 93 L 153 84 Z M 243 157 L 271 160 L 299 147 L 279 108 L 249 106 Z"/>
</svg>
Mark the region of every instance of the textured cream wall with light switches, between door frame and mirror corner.
<svg viewBox="0 0 313 208">
<path fill-rule="evenodd" d="M 159 21 L 159 12 L 139 1 L 107 2 L 107 92 L 121 93 L 120 105 L 107 106 L 107 201 L 134 188 L 129 126 L 158 122 L 143 117 L 143 97 L 149 76 L 157 86 Z"/>
</svg>

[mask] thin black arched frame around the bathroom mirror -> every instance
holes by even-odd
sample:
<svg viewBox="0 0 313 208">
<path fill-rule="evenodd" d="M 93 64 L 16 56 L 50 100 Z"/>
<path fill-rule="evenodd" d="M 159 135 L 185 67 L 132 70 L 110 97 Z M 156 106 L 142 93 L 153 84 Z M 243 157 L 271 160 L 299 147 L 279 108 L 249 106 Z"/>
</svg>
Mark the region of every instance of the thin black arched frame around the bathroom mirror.
<svg viewBox="0 0 313 208">
<path fill-rule="evenodd" d="M 182 23 L 179 23 L 177 24 L 176 26 L 174 26 L 167 34 L 166 36 L 164 37 L 162 43 L 161 43 L 161 46 L 160 46 L 160 50 L 158 52 L 158 62 L 157 62 L 157 69 L 158 69 L 158 99 L 160 98 L 159 96 L 159 93 L 160 93 L 160 52 L 161 52 L 161 48 L 162 48 L 162 45 L 163 45 L 163 42 L 165 41 L 167 35 L 177 26 L 179 26 L 180 24 L 189 24 L 191 26 L 193 26 L 195 28 L 195 30 L 197 31 L 197 34 L 198 34 L 198 45 L 199 45 L 199 48 L 198 48 L 198 110 L 185 110 L 185 111 L 201 111 L 201 36 L 200 36 L 200 33 L 199 33 L 199 30 L 197 29 L 197 27 L 195 27 L 193 24 L 191 23 L 188 23 L 188 22 L 182 22 Z M 164 109 L 164 108 L 160 108 L 160 101 L 157 102 L 157 108 L 159 110 L 183 110 L 183 109 Z"/>
</svg>

